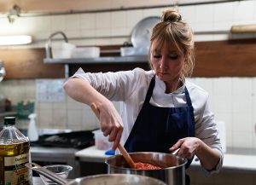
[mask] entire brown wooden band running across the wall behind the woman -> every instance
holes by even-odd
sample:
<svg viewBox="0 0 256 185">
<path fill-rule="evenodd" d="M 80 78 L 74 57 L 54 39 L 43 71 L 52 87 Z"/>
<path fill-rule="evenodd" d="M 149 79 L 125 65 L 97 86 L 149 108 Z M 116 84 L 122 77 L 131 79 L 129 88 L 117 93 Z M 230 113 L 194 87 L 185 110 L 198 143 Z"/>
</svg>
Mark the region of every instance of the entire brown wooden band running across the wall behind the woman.
<svg viewBox="0 0 256 185">
<path fill-rule="evenodd" d="M 102 46 L 101 50 L 118 50 L 121 45 Z M 113 56 L 119 53 L 113 53 Z M 109 56 L 103 54 L 102 56 Z M 4 61 L 6 79 L 20 78 L 64 78 L 64 65 L 45 64 L 44 49 L 0 49 L 0 60 Z M 148 63 L 73 64 L 70 75 L 79 67 L 87 72 L 131 70 Z M 256 77 L 256 39 L 210 41 L 195 43 L 195 70 L 192 77 Z"/>
</svg>

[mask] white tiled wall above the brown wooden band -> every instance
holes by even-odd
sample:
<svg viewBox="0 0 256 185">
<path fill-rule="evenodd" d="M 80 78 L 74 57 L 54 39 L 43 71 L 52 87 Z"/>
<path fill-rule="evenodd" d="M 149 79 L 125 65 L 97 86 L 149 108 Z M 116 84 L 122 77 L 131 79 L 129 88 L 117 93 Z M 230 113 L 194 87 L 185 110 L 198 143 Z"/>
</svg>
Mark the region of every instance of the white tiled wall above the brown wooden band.
<svg viewBox="0 0 256 185">
<path fill-rule="evenodd" d="M 65 32 L 69 42 L 77 45 L 122 44 L 131 42 L 132 29 L 139 20 L 160 16 L 165 9 L 20 17 L 13 24 L 1 17 L 0 35 L 32 35 L 34 43 L 28 47 L 44 47 L 45 40 L 56 31 Z M 230 31 L 233 25 L 254 24 L 256 21 L 256 2 L 253 0 L 180 6 L 178 9 L 195 32 Z M 195 41 L 253 37 L 254 34 L 196 34 Z"/>
</svg>

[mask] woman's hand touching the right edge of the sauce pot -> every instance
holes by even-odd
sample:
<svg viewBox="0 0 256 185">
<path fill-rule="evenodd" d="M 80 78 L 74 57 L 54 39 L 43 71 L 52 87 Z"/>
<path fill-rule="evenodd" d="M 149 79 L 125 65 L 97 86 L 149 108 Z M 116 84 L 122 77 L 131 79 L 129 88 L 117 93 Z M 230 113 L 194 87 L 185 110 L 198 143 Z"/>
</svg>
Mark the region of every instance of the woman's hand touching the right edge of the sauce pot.
<svg viewBox="0 0 256 185">
<path fill-rule="evenodd" d="M 192 159 L 199 149 L 201 140 L 196 137 L 184 137 L 179 139 L 172 147 L 169 148 L 170 151 L 174 151 L 180 148 L 177 155 L 183 158 Z"/>
</svg>

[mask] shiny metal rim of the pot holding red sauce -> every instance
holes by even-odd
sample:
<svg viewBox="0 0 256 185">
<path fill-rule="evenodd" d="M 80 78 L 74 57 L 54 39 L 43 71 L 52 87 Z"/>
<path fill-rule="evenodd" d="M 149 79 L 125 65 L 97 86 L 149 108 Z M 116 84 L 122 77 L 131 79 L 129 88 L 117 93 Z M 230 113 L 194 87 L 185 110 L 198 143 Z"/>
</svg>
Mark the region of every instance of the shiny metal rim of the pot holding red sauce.
<svg viewBox="0 0 256 185">
<path fill-rule="evenodd" d="M 181 167 L 181 166 L 183 166 L 183 165 L 186 165 L 186 164 L 188 163 L 188 159 L 183 158 L 183 157 L 180 157 L 180 156 L 177 156 L 177 155 L 174 155 L 174 154 L 172 154 L 172 153 L 134 152 L 134 153 L 129 153 L 129 154 L 132 155 L 132 154 L 143 154 L 143 153 L 145 153 L 145 154 L 151 153 L 151 154 L 155 154 L 155 155 L 158 155 L 158 154 L 170 155 L 170 156 L 176 157 L 177 159 L 181 159 L 181 160 L 183 161 L 183 164 L 181 164 L 181 165 L 173 165 L 173 166 L 170 166 L 170 167 L 167 167 L 167 168 L 162 168 L 162 169 L 151 169 L 151 170 L 134 169 L 134 171 L 161 171 L 161 170 L 175 169 L 175 168 Z M 109 166 L 111 166 L 111 167 L 113 167 L 113 168 L 124 169 L 124 170 L 125 170 L 125 169 L 130 169 L 130 170 L 132 171 L 133 169 L 131 169 L 131 168 L 129 168 L 129 167 L 122 167 L 122 166 L 110 165 L 110 164 L 108 163 L 108 161 L 109 161 L 110 159 L 114 159 L 114 158 L 116 158 L 116 157 L 118 157 L 118 156 L 122 156 L 122 154 L 119 153 L 119 154 L 115 154 L 115 155 L 113 155 L 113 156 L 108 157 L 107 159 L 105 159 L 105 164 L 107 164 L 107 165 L 109 165 Z"/>
</svg>

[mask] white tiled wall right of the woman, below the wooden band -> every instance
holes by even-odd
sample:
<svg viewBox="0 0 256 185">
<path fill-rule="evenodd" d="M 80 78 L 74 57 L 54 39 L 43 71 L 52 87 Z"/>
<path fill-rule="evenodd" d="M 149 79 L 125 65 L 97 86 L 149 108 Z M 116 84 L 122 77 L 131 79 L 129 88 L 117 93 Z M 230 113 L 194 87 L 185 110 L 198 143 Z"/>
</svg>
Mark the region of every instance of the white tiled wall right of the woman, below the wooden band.
<svg viewBox="0 0 256 185">
<path fill-rule="evenodd" d="M 256 147 L 256 78 L 191 78 L 210 94 L 215 119 L 226 123 L 227 146 Z"/>
</svg>

